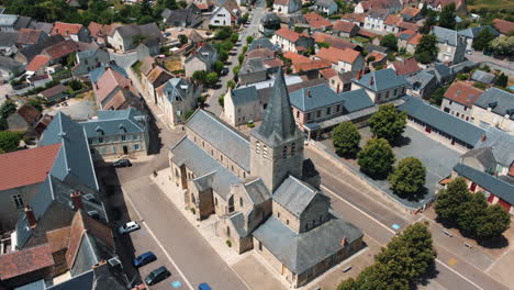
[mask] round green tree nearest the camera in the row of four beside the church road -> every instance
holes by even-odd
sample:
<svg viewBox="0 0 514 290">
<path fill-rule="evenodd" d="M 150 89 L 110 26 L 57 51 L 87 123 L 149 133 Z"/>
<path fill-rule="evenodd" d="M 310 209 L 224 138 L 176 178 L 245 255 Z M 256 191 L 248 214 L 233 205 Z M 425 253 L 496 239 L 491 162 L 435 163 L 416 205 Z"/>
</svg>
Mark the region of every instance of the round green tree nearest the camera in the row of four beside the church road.
<svg viewBox="0 0 514 290">
<path fill-rule="evenodd" d="M 400 197 L 407 197 L 418 193 L 426 178 L 426 168 L 422 161 L 414 157 L 406 157 L 400 160 L 388 179 L 391 188 Z"/>
</svg>

